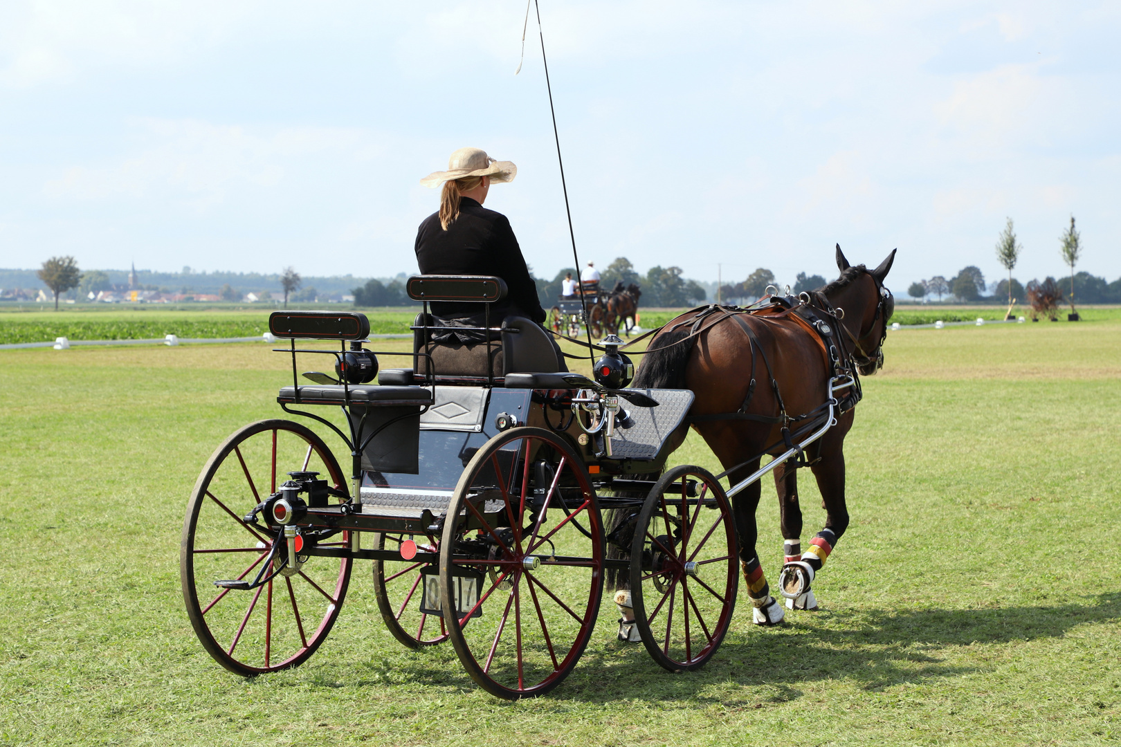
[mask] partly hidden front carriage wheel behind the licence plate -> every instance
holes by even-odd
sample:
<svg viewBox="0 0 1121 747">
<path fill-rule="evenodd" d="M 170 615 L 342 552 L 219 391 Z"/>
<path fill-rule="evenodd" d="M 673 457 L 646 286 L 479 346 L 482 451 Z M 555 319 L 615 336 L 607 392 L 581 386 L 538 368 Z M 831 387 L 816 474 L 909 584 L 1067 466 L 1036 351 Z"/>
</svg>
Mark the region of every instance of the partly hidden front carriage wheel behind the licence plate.
<svg viewBox="0 0 1121 747">
<path fill-rule="evenodd" d="M 434 538 L 411 534 L 374 535 L 378 550 L 399 550 L 401 543 L 411 540 L 421 552 L 437 552 L 438 542 Z M 378 598 L 378 609 L 386 627 L 409 648 L 420 648 L 447 641 L 447 627 L 443 618 L 420 611 L 424 595 L 424 563 L 407 560 L 374 560 L 373 591 Z"/>
</svg>

